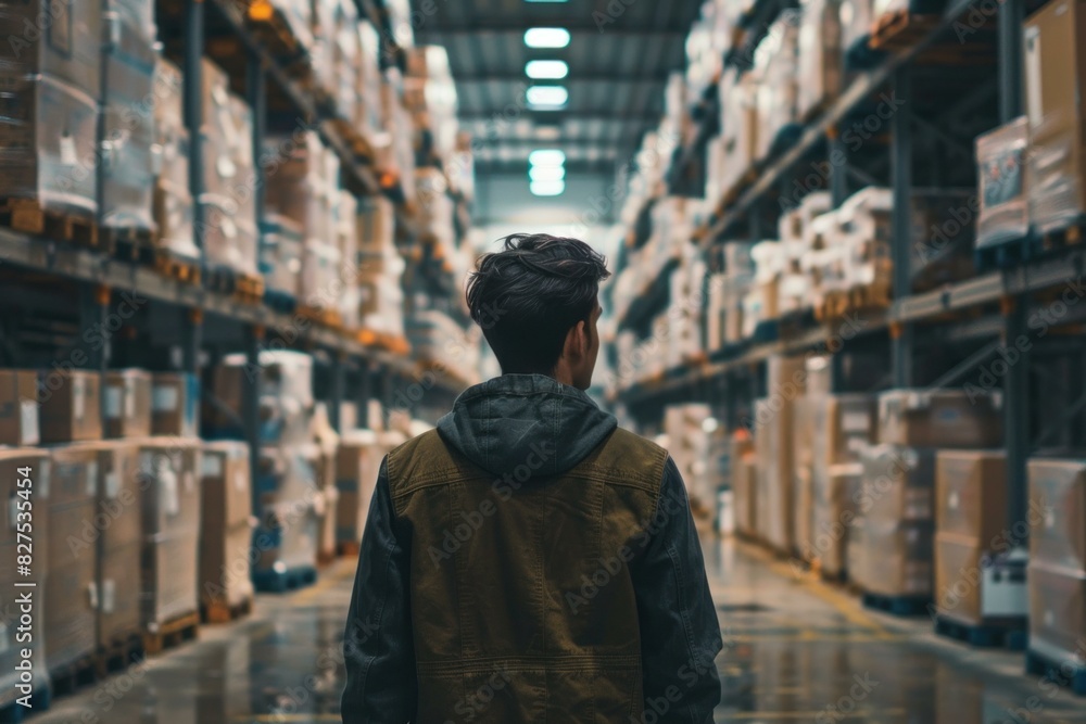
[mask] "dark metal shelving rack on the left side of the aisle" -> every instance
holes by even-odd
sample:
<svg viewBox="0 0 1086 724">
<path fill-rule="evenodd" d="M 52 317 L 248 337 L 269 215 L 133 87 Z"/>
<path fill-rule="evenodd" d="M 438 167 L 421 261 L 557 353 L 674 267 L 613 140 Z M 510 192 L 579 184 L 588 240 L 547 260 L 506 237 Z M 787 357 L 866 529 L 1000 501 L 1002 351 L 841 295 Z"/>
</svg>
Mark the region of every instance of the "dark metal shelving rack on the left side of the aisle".
<svg viewBox="0 0 1086 724">
<path fill-rule="evenodd" d="M 381 31 L 386 51 L 395 51 L 383 8 L 374 0 L 357 0 L 357 4 L 362 16 L 374 22 Z M 185 118 L 190 129 L 190 185 L 194 199 L 199 199 L 203 190 L 201 60 L 212 21 L 217 33 L 227 28 L 232 41 L 244 51 L 243 72 L 231 73 L 231 85 L 244 88 L 245 100 L 253 110 L 254 158 L 258 160 L 264 152 L 269 120 L 268 98 L 277 92 L 280 93 L 279 98 L 287 99 L 301 123 L 318 132 L 340 156 L 345 188 L 357 195 L 382 192 L 395 194 L 395 189 L 382 188 L 382 179 L 377 170 L 366 160 L 354 154 L 348 141 L 330 123 L 326 110 L 302 84 L 291 77 L 283 63 L 249 29 L 243 15 L 243 3 L 230 0 L 159 0 L 156 5 L 156 15 L 160 18 L 171 18 L 171 31 L 176 34 L 174 39 L 180 40 L 180 56 L 173 60 L 178 62 L 185 75 Z M 255 220 L 258 220 L 263 196 L 260 190 L 263 189 L 264 179 L 260 163 L 255 165 Z M 409 209 L 397 204 L 396 214 L 397 226 L 402 231 L 406 229 L 411 233 L 415 223 Z M 200 204 L 195 205 L 194 218 L 198 230 L 195 241 L 202 251 L 203 239 L 199 230 L 204 217 Z M 243 353 L 251 364 L 255 364 L 260 352 L 265 348 L 307 351 L 314 354 L 317 363 L 317 398 L 327 403 L 332 424 L 338 428 L 342 419 L 340 406 L 343 401 L 356 399 L 362 403 L 358 405 L 358 422 L 365 425 L 368 423 L 367 399 L 377 397 L 386 407 L 390 407 L 395 392 L 413 384 L 425 371 L 409 357 L 368 347 L 348 335 L 314 326 L 294 315 L 275 312 L 263 305 L 239 304 L 229 295 L 212 292 L 199 284 L 182 283 L 144 266 L 47 238 L 0 229 L 0 266 L 11 280 L 5 290 L 0 289 L 0 299 L 3 294 L 10 295 L 3 300 L 12 305 L 9 308 L 24 308 L 27 312 L 28 308 L 20 307 L 20 296 L 23 295 L 23 303 L 26 303 L 28 294 L 37 294 L 34 292 L 34 284 L 50 284 L 61 291 L 58 291 L 54 300 L 48 294 L 34 296 L 40 301 L 40 307 L 33 307 L 35 316 L 40 308 L 41 315 L 58 318 L 67 315 L 66 318 L 70 318 L 73 316 L 72 300 L 75 300 L 74 316 L 81 330 L 100 329 L 99 325 L 106 325 L 113 316 L 111 309 L 114 303 L 123 295 L 142 301 L 138 313 L 126 326 L 125 331 L 129 333 L 127 338 L 111 338 L 109 343 L 80 353 L 79 358 L 81 360 L 85 356 L 86 365 L 78 367 L 98 369 L 103 374 L 109 367 L 119 361 L 152 371 L 168 369 L 199 376 L 202 368 L 209 369 L 229 354 Z M 14 271 L 15 269 L 18 271 Z M 63 299 L 61 292 L 72 290 L 74 296 Z M 52 364 L 50 360 L 58 358 L 55 354 L 23 354 L 21 341 L 14 334 L 5 332 L 25 320 L 8 321 L 11 323 L 5 325 L 5 328 L 0 327 L 0 358 L 5 364 L 48 366 Z M 33 326 L 36 321 L 26 323 Z M 36 334 L 49 338 L 52 334 L 51 328 L 43 327 Z M 58 342 L 55 348 L 60 355 L 79 348 L 78 338 L 71 343 L 72 346 L 70 342 L 67 338 Z M 429 376 L 428 379 L 430 384 L 427 385 L 427 394 L 430 395 L 451 397 L 464 386 L 460 381 L 447 376 Z M 247 380 L 243 422 L 255 470 L 260 390 L 258 379 L 247 376 Z"/>
</svg>

